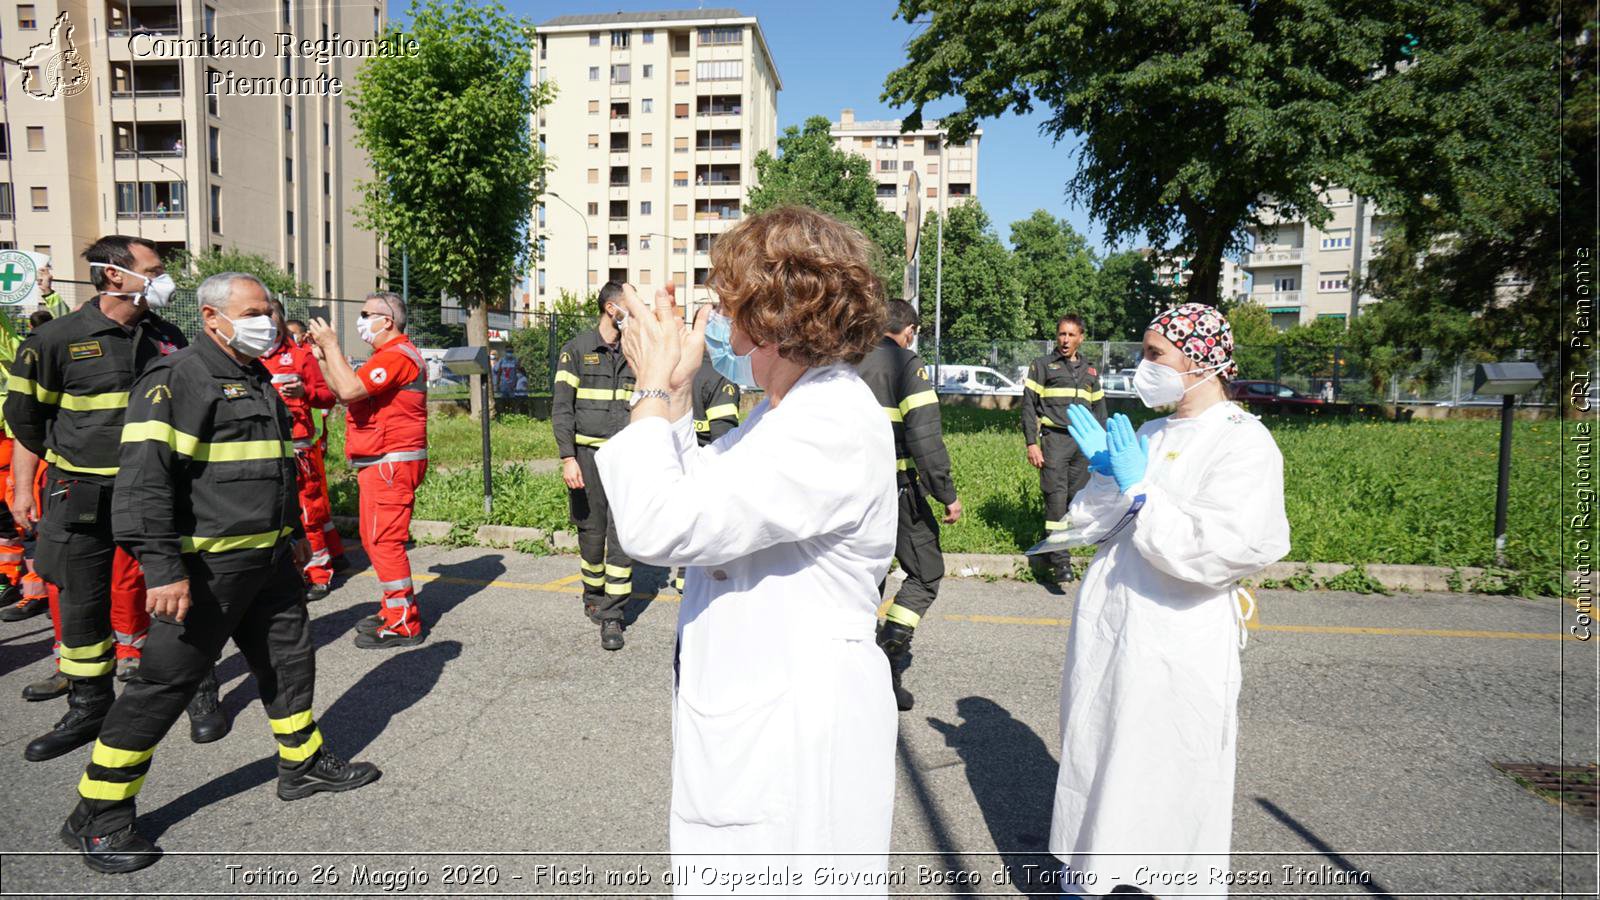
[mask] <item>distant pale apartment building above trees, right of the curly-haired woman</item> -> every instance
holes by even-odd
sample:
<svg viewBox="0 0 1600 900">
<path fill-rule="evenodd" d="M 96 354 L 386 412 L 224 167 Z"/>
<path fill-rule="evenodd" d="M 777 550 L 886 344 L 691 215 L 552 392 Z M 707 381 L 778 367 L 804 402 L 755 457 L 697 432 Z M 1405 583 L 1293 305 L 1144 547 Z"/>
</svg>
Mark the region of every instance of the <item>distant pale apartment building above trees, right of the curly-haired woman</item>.
<svg viewBox="0 0 1600 900">
<path fill-rule="evenodd" d="M 906 218 L 912 171 L 920 179 L 923 215 L 930 210 L 944 215 L 952 205 L 978 195 L 981 128 L 970 139 L 954 144 L 938 120 L 923 122 L 917 131 L 902 135 L 898 119 L 858 122 L 856 112 L 845 109 L 829 136 L 838 149 L 867 157 L 878 179 L 878 205 L 896 216 Z"/>
</svg>

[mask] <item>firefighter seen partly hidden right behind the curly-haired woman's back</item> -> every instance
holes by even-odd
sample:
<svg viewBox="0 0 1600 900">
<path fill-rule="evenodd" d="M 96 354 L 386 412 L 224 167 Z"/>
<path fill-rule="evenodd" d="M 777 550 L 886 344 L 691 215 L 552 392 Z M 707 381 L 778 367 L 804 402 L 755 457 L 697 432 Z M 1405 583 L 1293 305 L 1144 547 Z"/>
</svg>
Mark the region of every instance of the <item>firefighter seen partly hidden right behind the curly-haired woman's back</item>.
<svg viewBox="0 0 1600 900">
<path fill-rule="evenodd" d="M 917 309 L 904 299 L 888 304 L 883 341 L 856 370 L 872 388 L 894 428 L 896 480 L 899 482 L 899 532 L 894 559 L 906 580 L 878 626 L 878 645 L 890 658 L 894 701 L 904 711 L 914 697 L 901 685 L 910 666 L 910 639 L 928 613 L 944 578 L 944 551 L 939 549 L 939 517 L 928 506 L 928 495 L 944 504 L 944 522 L 962 517 L 962 501 L 950 480 L 950 455 L 939 424 L 939 396 L 928 381 L 922 357 L 909 349 L 917 336 Z M 878 588 L 882 591 L 882 586 Z"/>
</svg>

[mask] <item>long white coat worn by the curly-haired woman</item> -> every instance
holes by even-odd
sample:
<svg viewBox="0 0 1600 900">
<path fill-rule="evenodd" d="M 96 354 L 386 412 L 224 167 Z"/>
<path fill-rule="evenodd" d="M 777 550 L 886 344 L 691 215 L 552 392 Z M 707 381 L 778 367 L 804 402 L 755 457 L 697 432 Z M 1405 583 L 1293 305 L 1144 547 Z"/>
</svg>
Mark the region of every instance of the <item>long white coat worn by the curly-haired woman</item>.
<svg viewBox="0 0 1600 900">
<path fill-rule="evenodd" d="M 742 894 L 861 894 L 811 878 L 888 865 L 898 713 L 874 629 L 898 511 L 872 391 L 853 367 L 813 368 L 709 447 L 688 416 L 650 418 L 595 463 L 629 556 L 688 565 L 669 836 L 690 882 L 677 890 L 728 892 L 707 884 L 714 870 L 755 878 Z M 872 855 L 834 855 L 846 852 Z"/>
</svg>

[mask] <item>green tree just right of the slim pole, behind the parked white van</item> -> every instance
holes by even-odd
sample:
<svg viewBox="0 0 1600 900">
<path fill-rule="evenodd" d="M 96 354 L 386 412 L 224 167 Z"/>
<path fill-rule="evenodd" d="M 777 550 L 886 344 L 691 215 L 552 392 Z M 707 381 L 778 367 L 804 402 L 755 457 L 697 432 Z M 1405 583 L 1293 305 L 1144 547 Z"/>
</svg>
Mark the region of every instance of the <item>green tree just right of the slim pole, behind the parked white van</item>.
<svg viewBox="0 0 1600 900">
<path fill-rule="evenodd" d="M 918 338 L 930 351 L 934 331 L 933 248 L 938 242 L 938 211 L 930 211 L 923 218 L 920 237 L 923 266 Z M 942 362 L 1008 367 L 1019 356 L 1032 359 L 1035 352 L 1032 344 L 1021 349 L 1013 346 L 1030 338 L 1016 261 L 1000 243 L 989 213 L 978 200 L 950 207 L 946 215 L 944 288 L 938 306 L 942 312 L 939 354 Z"/>
</svg>

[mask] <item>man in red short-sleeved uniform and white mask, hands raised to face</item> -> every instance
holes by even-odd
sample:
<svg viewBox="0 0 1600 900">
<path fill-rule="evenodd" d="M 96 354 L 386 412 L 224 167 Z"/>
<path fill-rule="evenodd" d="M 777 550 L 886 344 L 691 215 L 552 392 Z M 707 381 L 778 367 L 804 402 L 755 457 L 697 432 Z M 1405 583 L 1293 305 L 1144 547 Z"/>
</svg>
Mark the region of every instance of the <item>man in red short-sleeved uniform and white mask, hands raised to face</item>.
<svg viewBox="0 0 1600 900">
<path fill-rule="evenodd" d="M 405 301 L 398 295 L 366 295 L 355 327 L 373 346 L 373 357 L 360 370 L 350 367 L 326 320 L 310 322 L 312 352 L 323 378 L 349 408 L 344 453 L 362 495 L 362 543 L 384 593 L 378 615 L 357 623 L 355 645 L 411 647 L 422 642 L 422 620 L 405 541 L 416 488 L 427 474 L 427 367 L 405 336 Z"/>
</svg>

